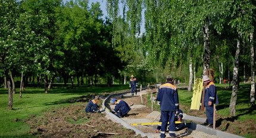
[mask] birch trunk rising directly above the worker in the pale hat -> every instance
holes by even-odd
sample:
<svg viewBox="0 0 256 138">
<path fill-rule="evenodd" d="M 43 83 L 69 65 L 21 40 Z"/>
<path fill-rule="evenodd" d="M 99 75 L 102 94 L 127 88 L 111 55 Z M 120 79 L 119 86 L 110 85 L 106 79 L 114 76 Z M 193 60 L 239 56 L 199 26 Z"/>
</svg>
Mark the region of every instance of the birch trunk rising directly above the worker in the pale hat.
<svg viewBox="0 0 256 138">
<path fill-rule="evenodd" d="M 203 74 L 207 74 L 207 70 L 210 70 L 210 31 L 209 31 L 209 21 L 205 23 L 202 28 L 204 33 L 204 72 Z"/>
</svg>

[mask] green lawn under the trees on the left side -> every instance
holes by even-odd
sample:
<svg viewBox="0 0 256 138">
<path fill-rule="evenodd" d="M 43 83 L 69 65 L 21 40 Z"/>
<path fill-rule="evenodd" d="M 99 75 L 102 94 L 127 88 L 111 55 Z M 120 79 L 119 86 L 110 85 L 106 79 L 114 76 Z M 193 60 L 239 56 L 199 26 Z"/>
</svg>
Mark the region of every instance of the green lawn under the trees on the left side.
<svg viewBox="0 0 256 138">
<path fill-rule="evenodd" d="M 27 118 L 42 115 L 51 108 L 60 108 L 70 105 L 70 99 L 83 95 L 96 95 L 101 93 L 123 90 L 128 86 L 112 87 L 54 87 L 45 94 L 43 88 L 27 87 L 23 98 L 18 98 L 18 89 L 13 97 L 13 110 L 7 109 L 8 91 L 0 89 L 0 137 L 35 137 L 29 133 L 30 126 L 25 122 Z"/>
</svg>

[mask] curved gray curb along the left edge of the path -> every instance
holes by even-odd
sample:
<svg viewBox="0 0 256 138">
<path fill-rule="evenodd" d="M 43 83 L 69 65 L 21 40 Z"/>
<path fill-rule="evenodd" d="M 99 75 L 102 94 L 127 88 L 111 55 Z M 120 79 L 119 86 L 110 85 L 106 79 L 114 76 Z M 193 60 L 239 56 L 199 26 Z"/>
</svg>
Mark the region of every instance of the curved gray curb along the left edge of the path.
<svg viewBox="0 0 256 138">
<path fill-rule="evenodd" d="M 144 88 L 145 89 L 145 88 Z M 115 121 L 117 121 L 118 123 L 120 123 L 122 126 L 124 126 L 125 128 L 128 128 L 130 130 L 133 130 L 135 131 L 136 134 L 141 134 L 142 137 L 149 137 L 149 138 L 153 138 L 151 136 L 149 136 L 148 134 L 146 133 L 143 133 L 141 130 L 139 130 L 138 128 L 136 127 L 132 127 L 130 126 L 130 124 L 128 124 L 126 121 L 123 121 L 121 118 L 118 118 L 117 116 L 115 116 L 114 114 L 112 114 L 110 112 L 110 110 L 108 108 L 106 108 L 107 104 L 108 104 L 108 101 L 109 99 L 111 98 L 111 96 L 117 96 L 117 95 L 124 95 L 126 93 L 129 93 L 130 91 L 125 91 L 125 92 L 122 92 L 122 93 L 114 93 L 113 95 L 109 95 L 107 98 L 105 98 L 102 102 L 102 108 L 105 109 L 105 113 L 110 115 L 111 118 L 113 118 Z"/>
</svg>

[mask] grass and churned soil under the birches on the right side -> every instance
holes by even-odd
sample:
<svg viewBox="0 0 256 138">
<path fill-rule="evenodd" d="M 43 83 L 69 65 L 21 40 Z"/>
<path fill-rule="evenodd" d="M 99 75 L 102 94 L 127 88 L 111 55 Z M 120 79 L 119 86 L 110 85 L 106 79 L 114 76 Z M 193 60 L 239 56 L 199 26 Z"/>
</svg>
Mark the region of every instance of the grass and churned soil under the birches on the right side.
<svg viewBox="0 0 256 138">
<path fill-rule="evenodd" d="M 240 84 L 238 99 L 236 102 L 236 116 L 230 117 L 229 115 L 229 103 L 230 96 L 232 93 L 232 88 L 228 88 L 229 84 L 216 84 L 217 95 L 219 104 L 217 108 L 217 129 L 222 131 L 227 131 L 233 134 L 239 134 L 245 137 L 256 137 L 256 110 L 250 108 L 249 106 L 249 95 L 251 92 L 250 84 Z M 205 113 L 203 111 L 191 110 L 191 98 L 192 92 L 188 90 L 178 90 L 179 92 L 179 102 L 180 109 L 189 115 L 204 117 Z M 156 95 L 155 95 L 156 96 Z M 148 96 L 149 99 L 149 96 Z M 148 100 L 148 105 L 151 106 Z M 156 110 L 160 109 L 159 105 L 154 105 Z"/>
</svg>

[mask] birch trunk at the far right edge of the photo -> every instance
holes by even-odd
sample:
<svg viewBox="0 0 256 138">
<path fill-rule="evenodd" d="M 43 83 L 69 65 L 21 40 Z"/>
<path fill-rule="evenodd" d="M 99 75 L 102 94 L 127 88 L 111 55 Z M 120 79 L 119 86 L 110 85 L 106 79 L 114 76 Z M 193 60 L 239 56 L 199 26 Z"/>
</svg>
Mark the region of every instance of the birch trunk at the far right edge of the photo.
<svg viewBox="0 0 256 138">
<path fill-rule="evenodd" d="M 251 93 L 250 93 L 250 102 L 251 107 L 255 106 L 255 66 L 254 66 L 254 41 L 253 34 L 250 34 L 250 45 L 251 45 Z"/>
</svg>

